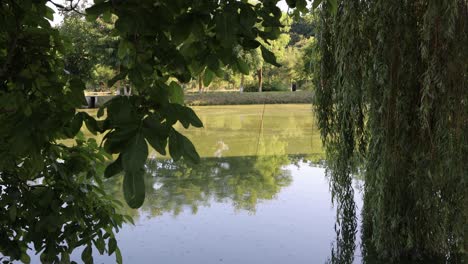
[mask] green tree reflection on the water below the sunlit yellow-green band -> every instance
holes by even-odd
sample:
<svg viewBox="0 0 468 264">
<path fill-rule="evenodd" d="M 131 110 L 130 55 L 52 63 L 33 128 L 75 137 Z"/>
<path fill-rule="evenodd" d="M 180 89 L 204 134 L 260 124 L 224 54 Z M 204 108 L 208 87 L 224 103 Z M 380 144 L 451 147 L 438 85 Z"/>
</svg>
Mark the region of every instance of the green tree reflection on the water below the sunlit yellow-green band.
<svg viewBox="0 0 468 264">
<path fill-rule="evenodd" d="M 140 210 L 126 213 L 156 217 L 179 215 L 185 210 L 196 214 L 211 203 L 230 203 L 234 210 L 254 214 L 259 203 L 275 199 L 291 184 L 284 166 L 305 161 L 305 156 L 254 156 L 204 158 L 200 164 L 180 160 L 150 159 L 146 164 L 146 200 Z M 107 188 L 123 201 L 118 188 L 120 177 L 107 181 Z"/>
</svg>

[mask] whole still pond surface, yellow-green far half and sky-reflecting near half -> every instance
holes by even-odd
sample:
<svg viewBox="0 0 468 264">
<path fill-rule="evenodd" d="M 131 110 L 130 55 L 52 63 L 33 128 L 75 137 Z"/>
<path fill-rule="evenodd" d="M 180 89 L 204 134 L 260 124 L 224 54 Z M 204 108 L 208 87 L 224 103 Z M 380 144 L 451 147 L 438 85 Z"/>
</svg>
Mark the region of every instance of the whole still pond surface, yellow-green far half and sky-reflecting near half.
<svg viewBox="0 0 468 264">
<path fill-rule="evenodd" d="M 336 210 L 311 106 L 195 111 L 205 127 L 179 131 L 194 142 L 202 161 L 192 165 L 151 155 L 145 203 L 124 209 L 135 226 L 117 234 L 124 262 L 328 262 Z M 121 181 L 116 177 L 107 186 L 123 200 Z M 356 250 L 354 262 L 359 255 Z M 114 259 L 95 255 L 95 262 Z"/>
</svg>

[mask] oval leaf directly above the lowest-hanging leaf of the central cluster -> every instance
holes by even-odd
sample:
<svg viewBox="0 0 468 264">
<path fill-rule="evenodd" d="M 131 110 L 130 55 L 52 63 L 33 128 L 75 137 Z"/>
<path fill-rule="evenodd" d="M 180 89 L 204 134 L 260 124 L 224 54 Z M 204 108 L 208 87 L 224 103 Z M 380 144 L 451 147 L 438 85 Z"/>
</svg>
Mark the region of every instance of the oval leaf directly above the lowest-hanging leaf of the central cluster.
<svg viewBox="0 0 468 264">
<path fill-rule="evenodd" d="M 148 145 L 142 133 L 137 133 L 122 153 L 122 165 L 125 172 L 143 168 L 148 157 Z"/>
</svg>

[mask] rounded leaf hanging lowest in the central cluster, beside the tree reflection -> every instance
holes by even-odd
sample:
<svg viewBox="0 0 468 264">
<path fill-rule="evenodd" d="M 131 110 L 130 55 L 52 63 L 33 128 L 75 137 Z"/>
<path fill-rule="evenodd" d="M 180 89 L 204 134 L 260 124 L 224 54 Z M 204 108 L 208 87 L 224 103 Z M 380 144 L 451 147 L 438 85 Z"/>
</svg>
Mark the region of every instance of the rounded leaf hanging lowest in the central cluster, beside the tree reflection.
<svg viewBox="0 0 468 264">
<path fill-rule="evenodd" d="M 125 201 L 131 208 L 139 208 L 145 201 L 144 174 L 143 168 L 125 171 L 123 193 Z"/>
</svg>

